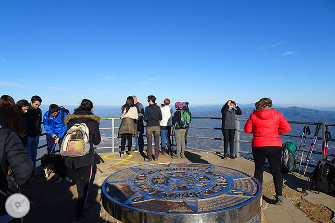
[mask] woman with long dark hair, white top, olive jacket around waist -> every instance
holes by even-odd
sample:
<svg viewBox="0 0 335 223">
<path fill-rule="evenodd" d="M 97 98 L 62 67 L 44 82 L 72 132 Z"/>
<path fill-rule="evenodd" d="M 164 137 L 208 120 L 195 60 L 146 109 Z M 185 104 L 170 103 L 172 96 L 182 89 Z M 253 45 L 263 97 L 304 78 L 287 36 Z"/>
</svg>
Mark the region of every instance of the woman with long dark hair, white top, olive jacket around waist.
<svg viewBox="0 0 335 223">
<path fill-rule="evenodd" d="M 124 156 L 124 149 L 126 147 L 126 140 L 128 140 L 128 151 L 127 155 L 131 155 L 131 144 L 132 137 L 135 136 L 137 139 L 137 126 L 135 124 L 138 118 L 137 108 L 134 105 L 134 98 L 128 96 L 126 103 L 121 107 L 121 124 L 118 135 L 121 135 L 121 153 L 120 156 Z"/>
</svg>

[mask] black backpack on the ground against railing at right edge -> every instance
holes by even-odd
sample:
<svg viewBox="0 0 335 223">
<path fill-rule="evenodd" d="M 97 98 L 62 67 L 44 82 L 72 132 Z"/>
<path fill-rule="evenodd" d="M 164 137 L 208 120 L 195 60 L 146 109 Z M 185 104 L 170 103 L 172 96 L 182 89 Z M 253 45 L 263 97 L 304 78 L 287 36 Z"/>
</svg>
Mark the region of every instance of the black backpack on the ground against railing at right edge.
<svg viewBox="0 0 335 223">
<path fill-rule="evenodd" d="M 308 190 L 316 190 L 323 193 L 335 192 L 335 158 L 330 162 L 322 159 L 311 173 L 307 182 Z"/>
</svg>

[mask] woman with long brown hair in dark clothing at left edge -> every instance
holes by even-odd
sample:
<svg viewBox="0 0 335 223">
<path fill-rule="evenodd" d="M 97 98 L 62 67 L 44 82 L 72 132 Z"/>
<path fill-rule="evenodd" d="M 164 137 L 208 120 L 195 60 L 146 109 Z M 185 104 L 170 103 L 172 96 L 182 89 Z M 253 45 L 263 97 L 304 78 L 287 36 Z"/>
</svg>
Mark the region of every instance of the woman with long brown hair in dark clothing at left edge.
<svg viewBox="0 0 335 223">
<path fill-rule="evenodd" d="M 4 129 L 12 130 L 21 141 L 27 141 L 27 132 L 23 128 L 21 114 L 13 97 L 3 95 L 0 97 L 0 125 Z"/>
</svg>

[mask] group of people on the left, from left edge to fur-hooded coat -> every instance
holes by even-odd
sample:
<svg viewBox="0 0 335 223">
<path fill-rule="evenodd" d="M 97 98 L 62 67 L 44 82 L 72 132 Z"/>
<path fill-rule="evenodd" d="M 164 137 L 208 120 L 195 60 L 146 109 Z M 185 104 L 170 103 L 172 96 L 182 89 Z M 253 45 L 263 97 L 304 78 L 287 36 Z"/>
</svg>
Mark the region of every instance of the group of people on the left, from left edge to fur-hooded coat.
<svg viewBox="0 0 335 223">
<path fill-rule="evenodd" d="M 13 217 L 5 210 L 7 197 L 18 192 L 19 186 L 33 179 L 36 155 L 41 134 L 42 111 L 41 97 L 35 95 L 31 101 L 19 100 L 15 103 L 9 95 L 0 98 L 0 222 L 9 222 Z M 83 213 L 87 206 L 89 185 L 94 165 L 94 145 L 101 141 L 100 118 L 93 113 L 93 103 L 83 99 L 80 106 L 74 109 L 72 115 L 68 110 L 56 104 L 50 104 L 49 110 L 43 116 L 43 126 L 46 131 L 48 153 L 55 153 L 54 146 L 62 143 L 65 132 L 77 123 L 85 123 L 89 129 L 90 150 L 85 156 L 64 157 L 67 167 L 75 175 L 78 198 L 75 206 L 73 222 L 81 222 L 88 218 Z M 15 182 L 8 180 L 12 171 Z M 6 195 L 6 196 L 5 196 Z"/>
</svg>

